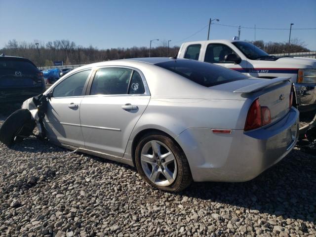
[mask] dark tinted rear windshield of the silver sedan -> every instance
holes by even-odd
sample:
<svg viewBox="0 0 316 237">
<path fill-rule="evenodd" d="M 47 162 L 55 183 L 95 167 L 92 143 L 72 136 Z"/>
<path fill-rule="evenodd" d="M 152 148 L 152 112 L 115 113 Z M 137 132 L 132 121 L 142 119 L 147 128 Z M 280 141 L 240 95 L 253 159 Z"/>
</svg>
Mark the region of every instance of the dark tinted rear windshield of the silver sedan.
<svg viewBox="0 0 316 237">
<path fill-rule="evenodd" d="M 206 87 L 248 78 L 233 70 L 195 60 L 174 60 L 155 65 Z"/>
</svg>

